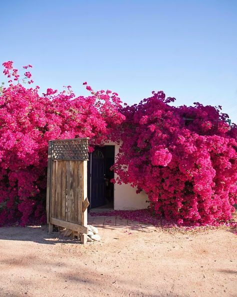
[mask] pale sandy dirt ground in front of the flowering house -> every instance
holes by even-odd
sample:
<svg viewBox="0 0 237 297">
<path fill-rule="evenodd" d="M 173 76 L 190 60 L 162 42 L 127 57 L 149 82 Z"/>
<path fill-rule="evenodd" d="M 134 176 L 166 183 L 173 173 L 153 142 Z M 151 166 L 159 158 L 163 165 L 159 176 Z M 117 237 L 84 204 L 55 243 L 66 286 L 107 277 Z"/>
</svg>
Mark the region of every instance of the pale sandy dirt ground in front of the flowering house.
<svg viewBox="0 0 237 297">
<path fill-rule="evenodd" d="M 102 241 L 86 245 L 46 226 L 0 228 L 0 297 L 237 296 L 230 228 L 180 232 L 93 220 Z"/>
</svg>

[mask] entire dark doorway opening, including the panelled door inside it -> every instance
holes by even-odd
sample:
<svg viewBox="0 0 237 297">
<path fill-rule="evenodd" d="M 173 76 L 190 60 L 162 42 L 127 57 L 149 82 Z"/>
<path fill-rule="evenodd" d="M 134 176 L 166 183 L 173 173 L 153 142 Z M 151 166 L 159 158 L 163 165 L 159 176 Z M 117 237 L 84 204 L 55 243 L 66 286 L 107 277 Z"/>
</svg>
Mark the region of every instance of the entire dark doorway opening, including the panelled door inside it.
<svg viewBox="0 0 237 297">
<path fill-rule="evenodd" d="M 114 164 L 114 145 L 95 146 L 88 162 L 88 199 L 90 208 L 112 208 L 114 178 L 110 167 Z"/>
</svg>

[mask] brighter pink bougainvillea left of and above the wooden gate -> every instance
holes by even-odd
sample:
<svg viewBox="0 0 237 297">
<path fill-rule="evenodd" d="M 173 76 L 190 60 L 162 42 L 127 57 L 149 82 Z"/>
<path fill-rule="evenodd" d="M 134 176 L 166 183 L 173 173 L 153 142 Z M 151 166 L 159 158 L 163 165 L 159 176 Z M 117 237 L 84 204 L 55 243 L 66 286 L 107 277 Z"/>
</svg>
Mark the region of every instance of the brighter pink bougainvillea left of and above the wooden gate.
<svg viewBox="0 0 237 297">
<path fill-rule="evenodd" d="M 120 100 L 86 82 L 88 97 L 75 97 L 69 86 L 40 95 L 38 86 L 26 87 L 30 65 L 23 78 L 11 61 L 3 66 L 9 85 L 0 90 L 0 224 L 43 222 L 48 140 L 89 137 L 101 143 L 124 119 Z"/>
</svg>

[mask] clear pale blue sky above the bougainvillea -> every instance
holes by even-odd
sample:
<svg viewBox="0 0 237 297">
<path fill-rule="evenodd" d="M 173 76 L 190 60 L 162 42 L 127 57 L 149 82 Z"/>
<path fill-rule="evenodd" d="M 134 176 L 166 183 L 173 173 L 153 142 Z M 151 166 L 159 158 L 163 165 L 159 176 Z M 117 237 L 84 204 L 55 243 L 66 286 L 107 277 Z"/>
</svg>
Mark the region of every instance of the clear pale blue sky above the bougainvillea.
<svg viewBox="0 0 237 297">
<path fill-rule="evenodd" d="M 131 104 L 163 90 L 237 122 L 237 0 L 0 0 L 0 30 L 0 62 L 33 65 L 42 92 L 87 81 Z"/>
</svg>

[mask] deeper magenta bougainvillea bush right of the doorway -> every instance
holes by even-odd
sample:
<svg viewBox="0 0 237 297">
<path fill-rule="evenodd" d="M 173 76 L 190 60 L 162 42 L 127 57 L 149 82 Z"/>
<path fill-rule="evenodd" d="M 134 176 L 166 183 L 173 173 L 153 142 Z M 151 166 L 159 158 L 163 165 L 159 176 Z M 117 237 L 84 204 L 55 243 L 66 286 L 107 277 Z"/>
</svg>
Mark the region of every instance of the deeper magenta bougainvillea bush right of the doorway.
<svg viewBox="0 0 237 297">
<path fill-rule="evenodd" d="M 226 222 L 237 198 L 237 127 L 220 106 L 174 100 L 153 92 L 123 109 L 116 182 L 143 190 L 155 214 L 179 225 Z"/>
</svg>

